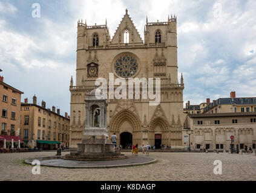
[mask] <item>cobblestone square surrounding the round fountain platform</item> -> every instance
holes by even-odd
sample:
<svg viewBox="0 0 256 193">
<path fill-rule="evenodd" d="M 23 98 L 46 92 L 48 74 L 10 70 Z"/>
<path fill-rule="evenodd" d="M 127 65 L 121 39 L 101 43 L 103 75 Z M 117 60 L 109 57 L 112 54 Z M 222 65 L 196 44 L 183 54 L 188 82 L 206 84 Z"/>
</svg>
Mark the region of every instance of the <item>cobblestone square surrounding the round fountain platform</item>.
<svg viewBox="0 0 256 193">
<path fill-rule="evenodd" d="M 40 175 L 33 175 L 33 166 L 23 163 L 25 159 L 55 154 L 53 151 L 0 154 L 1 180 L 256 180 L 256 156 L 252 154 L 150 153 L 149 157 L 159 162 L 100 169 L 41 166 Z M 130 156 L 127 152 L 123 154 Z M 222 161 L 222 175 L 214 174 L 214 160 Z"/>
</svg>

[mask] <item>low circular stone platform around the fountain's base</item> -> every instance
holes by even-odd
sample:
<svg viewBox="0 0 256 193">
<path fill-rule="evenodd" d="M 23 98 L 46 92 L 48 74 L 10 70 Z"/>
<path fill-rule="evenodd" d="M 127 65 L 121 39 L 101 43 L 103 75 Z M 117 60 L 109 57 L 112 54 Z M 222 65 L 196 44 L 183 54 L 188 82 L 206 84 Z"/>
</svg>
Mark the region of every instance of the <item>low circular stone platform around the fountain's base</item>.
<svg viewBox="0 0 256 193">
<path fill-rule="evenodd" d="M 40 165 L 58 168 L 113 168 L 122 166 L 137 166 L 157 162 L 156 159 L 150 157 L 131 157 L 120 160 L 102 160 L 102 161 L 79 161 L 65 160 L 61 157 L 41 157 L 38 159 L 25 160 L 25 163 L 31 164 L 33 160 L 39 160 Z"/>
</svg>

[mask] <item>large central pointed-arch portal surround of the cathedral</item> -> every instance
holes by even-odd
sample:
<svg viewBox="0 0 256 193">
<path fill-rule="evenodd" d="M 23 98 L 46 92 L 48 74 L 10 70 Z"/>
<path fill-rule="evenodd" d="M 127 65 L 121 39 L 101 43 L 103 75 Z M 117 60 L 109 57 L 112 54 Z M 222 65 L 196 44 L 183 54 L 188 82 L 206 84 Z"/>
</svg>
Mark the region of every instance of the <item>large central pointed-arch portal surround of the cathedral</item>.
<svg viewBox="0 0 256 193">
<path fill-rule="evenodd" d="M 132 134 L 132 144 L 141 144 L 140 120 L 130 110 L 122 110 L 111 120 L 109 138 L 113 133 L 117 135 L 117 145 L 120 145 L 120 134 L 129 132 Z M 119 138 L 118 138 L 119 136 Z"/>
</svg>

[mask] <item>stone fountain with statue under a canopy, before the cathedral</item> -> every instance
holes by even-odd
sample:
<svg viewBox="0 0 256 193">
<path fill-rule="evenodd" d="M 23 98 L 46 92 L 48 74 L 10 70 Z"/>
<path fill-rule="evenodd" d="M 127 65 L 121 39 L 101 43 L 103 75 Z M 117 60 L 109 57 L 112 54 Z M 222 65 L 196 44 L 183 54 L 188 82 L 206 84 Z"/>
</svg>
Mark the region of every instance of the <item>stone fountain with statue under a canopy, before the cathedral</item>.
<svg viewBox="0 0 256 193">
<path fill-rule="evenodd" d="M 77 144 L 77 152 L 62 157 L 71 160 L 114 160 L 126 159 L 115 151 L 114 144 L 108 143 L 107 100 L 96 93 L 88 92 L 85 98 L 85 129 L 82 144 Z"/>
</svg>

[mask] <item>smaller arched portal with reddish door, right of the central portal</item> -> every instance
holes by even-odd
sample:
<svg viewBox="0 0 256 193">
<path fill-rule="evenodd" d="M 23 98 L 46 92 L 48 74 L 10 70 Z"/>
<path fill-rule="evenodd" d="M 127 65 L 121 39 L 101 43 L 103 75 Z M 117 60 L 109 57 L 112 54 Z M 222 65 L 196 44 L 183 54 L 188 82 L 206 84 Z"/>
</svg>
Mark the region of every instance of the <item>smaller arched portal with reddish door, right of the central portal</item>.
<svg viewBox="0 0 256 193">
<path fill-rule="evenodd" d="M 162 118 L 151 121 L 149 126 L 149 143 L 160 148 L 163 144 L 169 145 L 168 123 Z"/>
</svg>

